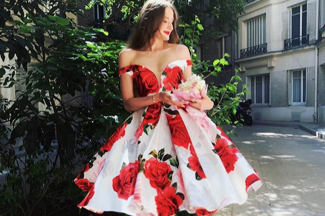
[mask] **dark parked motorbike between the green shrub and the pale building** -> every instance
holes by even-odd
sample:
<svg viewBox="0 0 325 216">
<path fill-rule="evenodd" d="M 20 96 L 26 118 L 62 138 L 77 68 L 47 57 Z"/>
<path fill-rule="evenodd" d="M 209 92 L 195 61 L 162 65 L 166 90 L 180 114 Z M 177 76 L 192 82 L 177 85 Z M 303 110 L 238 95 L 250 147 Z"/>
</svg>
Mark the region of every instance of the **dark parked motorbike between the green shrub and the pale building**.
<svg viewBox="0 0 325 216">
<path fill-rule="evenodd" d="M 248 99 L 246 101 L 239 102 L 239 106 L 236 108 L 235 115 L 231 113 L 231 120 L 232 122 L 235 121 L 244 121 L 247 125 L 253 124 L 253 118 L 250 115 L 252 113 L 252 109 L 250 108 L 250 105 L 252 104 L 252 100 Z"/>
</svg>

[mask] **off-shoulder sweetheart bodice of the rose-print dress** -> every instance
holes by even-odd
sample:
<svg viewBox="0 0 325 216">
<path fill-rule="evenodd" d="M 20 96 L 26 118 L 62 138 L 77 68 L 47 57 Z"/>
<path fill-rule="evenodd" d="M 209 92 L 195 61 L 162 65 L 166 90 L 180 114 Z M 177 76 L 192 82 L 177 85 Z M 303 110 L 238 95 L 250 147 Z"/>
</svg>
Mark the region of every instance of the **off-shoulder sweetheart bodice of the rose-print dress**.
<svg viewBox="0 0 325 216">
<path fill-rule="evenodd" d="M 140 97 L 148 96 L 161 91 L 172 91 L 183 80 L 183 72 L 190 60 L 175 60 L 161 71 L 160 79 L 153 71 L 143 65 L 132 64 L 119 69 L 118 74 L 126 73 L 132 76 Z"/>
</svg>

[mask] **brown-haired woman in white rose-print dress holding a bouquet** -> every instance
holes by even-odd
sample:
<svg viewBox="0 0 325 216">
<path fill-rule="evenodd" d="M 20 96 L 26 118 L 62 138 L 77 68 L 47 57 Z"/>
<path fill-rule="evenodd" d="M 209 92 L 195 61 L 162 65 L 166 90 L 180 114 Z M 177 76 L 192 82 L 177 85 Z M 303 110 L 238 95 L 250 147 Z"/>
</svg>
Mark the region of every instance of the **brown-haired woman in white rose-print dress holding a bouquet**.
<svg viewBox="0 0 325 216">
<path fill-rule="evenodd" d="M 134 111 L 78 175 L 78 205 L 129 215 L 207 215 L 242 204 L 262 182 L 203 110 L 209 97 L 179 101 L 172 90 L 191 76 L 178 45 L 177 11 L 168 0 L 143 6 L 128 48 L 119 55 L 123 105 Z"/>
</svg>

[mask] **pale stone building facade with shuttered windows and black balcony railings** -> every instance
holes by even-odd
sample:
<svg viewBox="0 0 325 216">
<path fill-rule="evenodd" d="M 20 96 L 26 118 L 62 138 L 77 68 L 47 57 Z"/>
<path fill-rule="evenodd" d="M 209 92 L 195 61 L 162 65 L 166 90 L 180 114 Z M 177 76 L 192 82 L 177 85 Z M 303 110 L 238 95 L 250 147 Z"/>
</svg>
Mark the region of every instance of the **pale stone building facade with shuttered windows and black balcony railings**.
<svg viewBox="0 0 325 216">
<path fill-rule="evenodd" d="M 253 119 L 325 123 L 325 2 L 246 2 L 235 63 Z"/>
</svg>

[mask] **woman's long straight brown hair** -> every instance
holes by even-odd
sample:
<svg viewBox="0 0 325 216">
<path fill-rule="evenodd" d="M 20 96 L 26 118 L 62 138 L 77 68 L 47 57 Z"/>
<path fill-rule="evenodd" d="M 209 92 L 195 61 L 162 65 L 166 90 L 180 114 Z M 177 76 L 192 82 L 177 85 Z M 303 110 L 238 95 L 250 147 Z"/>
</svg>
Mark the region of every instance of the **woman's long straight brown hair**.
<svg viewBox="0 0 325 216">
<path fill-rule="evenodd" d="M 137 24 L 134 26 L 132 34 L 128 40 L 128 48 L 134 50 L 146 50 L 151 46 L 153 34 L 158 30 L 160 23 L 164 19 L 165 9 L 172 8 L 174 11 L 173 31 L 168 42 L 179 43 L 177 34 L 178 13 L 170 0 L 148 0 L 142 7 Z"/>
</svg>

